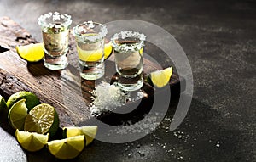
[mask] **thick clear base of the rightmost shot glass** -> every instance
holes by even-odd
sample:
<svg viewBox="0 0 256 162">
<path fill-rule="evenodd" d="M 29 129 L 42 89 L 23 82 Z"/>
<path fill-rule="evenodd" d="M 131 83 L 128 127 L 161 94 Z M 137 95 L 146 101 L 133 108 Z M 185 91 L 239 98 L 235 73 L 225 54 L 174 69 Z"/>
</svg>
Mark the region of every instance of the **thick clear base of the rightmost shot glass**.
<svg viewBox="0 0 256 162">
<path fill-rule="evenodd" d="M 123 91 L 137 91 L 143 87 L 143 74 L 135 78 L 125 78 L 119 75 L 118 85 Z"/>
</svg>

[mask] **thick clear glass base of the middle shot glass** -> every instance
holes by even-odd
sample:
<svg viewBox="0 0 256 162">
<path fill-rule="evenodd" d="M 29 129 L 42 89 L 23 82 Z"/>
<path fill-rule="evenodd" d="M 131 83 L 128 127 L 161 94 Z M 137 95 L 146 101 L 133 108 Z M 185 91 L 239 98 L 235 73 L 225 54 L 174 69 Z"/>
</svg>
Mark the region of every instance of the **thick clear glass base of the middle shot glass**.
<svg viewBox="0 0 256 162">
<path fill-rule="evenodd" d="M 95 66 L 84 66 L 80 64 L 81 72 L 80 76 L 85 80 L 96 80 L 100 79 L 105 73 L 104 63 L 96 64 Z"/>
</svg>

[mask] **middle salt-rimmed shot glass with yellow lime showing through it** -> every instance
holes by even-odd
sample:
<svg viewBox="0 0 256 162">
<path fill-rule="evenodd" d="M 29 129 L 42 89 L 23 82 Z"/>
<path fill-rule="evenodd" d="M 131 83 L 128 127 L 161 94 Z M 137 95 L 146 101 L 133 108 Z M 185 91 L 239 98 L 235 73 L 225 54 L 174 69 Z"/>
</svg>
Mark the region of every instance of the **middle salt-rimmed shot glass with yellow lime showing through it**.
<svg viewBox="0 0 256 162">
<path fill-rule="evenodd" d="M 96 80 L 105 73 L 104 40 L 107 27 L 100 23 L 87 21 L 73 28 L 79 64 L 80 76 L 86 80 Z"/>
</svg>

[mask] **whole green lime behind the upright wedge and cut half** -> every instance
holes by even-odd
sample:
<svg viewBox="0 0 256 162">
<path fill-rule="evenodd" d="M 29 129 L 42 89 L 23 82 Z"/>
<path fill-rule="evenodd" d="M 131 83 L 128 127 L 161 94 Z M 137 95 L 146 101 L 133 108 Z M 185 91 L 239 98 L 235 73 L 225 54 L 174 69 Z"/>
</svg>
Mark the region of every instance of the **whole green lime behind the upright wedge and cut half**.
<svg viewBox="0 0 256 162">
<path fill-rule="evenodd" d="M 9 97 L 9 99 L 6 102 L 8 109 L 10 109 L 12 105 L 14 105 L 14 103 L 16 103 L 22 98 L 26 98 L 26 108 L 28 110 L 32 109 L 34 106 L 40 103 L 38 97 L 32 92 L 20 91 L 15 92 L 15 94 L 12 94 Z"/>
</svg>

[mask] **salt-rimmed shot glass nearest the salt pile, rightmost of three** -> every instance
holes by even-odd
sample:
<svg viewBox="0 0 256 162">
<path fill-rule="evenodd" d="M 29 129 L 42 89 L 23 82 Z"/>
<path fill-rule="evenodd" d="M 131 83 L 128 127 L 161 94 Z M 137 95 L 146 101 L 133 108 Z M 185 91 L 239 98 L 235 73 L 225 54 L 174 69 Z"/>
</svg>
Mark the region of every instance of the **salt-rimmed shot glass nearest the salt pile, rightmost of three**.
<svg viewBox="0 0 256 162">
<path fill-rule="evenodd" d="M 124 91 L 143 87 L 143 46 L 146 36 L 137 31 L 121 31 L 112 36 L 111 42 L 118 85 Z"/>
</svg>

